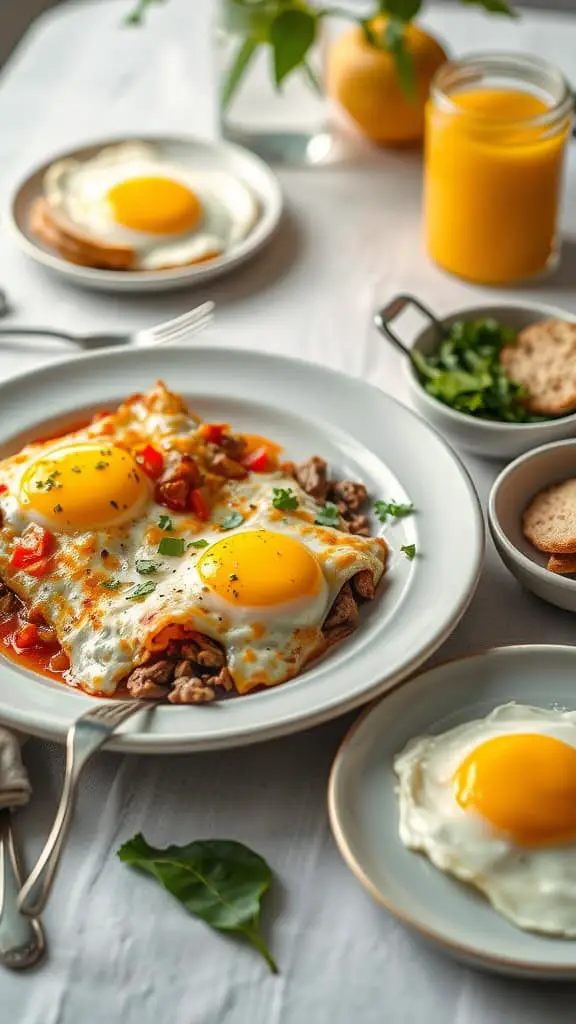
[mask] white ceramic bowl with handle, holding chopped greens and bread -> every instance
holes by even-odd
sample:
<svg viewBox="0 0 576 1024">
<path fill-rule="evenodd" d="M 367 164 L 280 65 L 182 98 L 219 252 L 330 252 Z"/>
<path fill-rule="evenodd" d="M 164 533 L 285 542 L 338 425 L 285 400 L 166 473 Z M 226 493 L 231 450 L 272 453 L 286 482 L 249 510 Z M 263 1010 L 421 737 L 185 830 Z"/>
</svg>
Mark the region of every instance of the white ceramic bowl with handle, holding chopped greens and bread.
<svg viewBox="0 0 576 1024">
<path fill-rule="evenodd" d="M 389 327 L 390 322 L 411 304 L 414 304 L 411 296 L 399 296 L 394 299 L 376 314 L 378 329 L 386 335 L 386 327 Z M 440 324 L 443 327 L 450 327 L 455 321 L 486 317 L 496 319 L 517 331 L 551 317 L 572 323 L 576 321 L 576 316 L 566 309 L 526 302 L 522 305 L 465 306 L 449 316 L 440 318 Z M 434 322 L 428 319 L 425 327 L 420 328 L 413 337 L 410 347 L 418 349 L 424 355 L 435 351 L 438 347 L 438 331 Z M 458 413 L 428 394 L 418 380 L 412 360 L 407 357 L 405 357 L 405 371 L 416 410 L 456 447 L 493 459 L 510 459 L 539 444 L 576 436 L 576 413 L 545 423 L 496 423 L 492 420 L 481 420 Z"/>
</svg>

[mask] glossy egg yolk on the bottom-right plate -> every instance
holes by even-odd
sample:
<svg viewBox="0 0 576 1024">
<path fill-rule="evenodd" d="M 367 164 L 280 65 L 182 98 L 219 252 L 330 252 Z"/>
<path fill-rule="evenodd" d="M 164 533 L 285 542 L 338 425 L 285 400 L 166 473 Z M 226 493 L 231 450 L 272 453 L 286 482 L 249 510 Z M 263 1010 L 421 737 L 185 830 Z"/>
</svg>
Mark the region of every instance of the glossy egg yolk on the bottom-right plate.
<svg viewBox="0 0 576 1024">
<path fill-rule="evenodd" d="M 576 836 L 576 750 L 553 736 L 511 733 L 481 743 L 454 775 L 460 807 L 519 846 Z"/>
</svg>

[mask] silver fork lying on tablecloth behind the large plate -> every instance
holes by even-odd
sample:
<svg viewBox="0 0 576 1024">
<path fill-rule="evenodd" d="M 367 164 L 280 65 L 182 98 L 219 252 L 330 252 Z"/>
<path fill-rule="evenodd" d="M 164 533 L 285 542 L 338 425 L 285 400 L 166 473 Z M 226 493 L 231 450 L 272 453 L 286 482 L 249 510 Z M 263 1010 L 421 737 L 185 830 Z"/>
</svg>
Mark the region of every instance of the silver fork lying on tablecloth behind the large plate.
<svg viewBox="0 0 576 1024">
<path fill-rule="evenodd" d="M 0 337 L 10 338 L 59 338 L 70 341 L 73 345 L 83 349 L 116 348 L 122 345 L 134 345 L 137 347 L 156 347 L 157 345 L 168 345 L 184 338 L 192 337 L 202 331 L 211 322 L 214 312 L 213 302 L 203 302 L 202 305 L 181 316 L 157 324 L 156 327 L 147 328 L 143 331 L 134 331 L 131 334 L 68 334 L 66 331 L 53 331 L 49 328 L 40 327 L 3 327 L 0 328 Z"/>
</svg>

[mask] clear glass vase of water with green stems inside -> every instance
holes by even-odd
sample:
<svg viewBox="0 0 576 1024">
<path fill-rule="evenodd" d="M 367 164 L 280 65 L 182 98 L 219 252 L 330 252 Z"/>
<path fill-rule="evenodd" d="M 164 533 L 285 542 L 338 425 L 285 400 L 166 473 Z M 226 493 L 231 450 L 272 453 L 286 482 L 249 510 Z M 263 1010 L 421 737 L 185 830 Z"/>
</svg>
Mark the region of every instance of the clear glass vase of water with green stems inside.
<svg viewBox="0 0 576 1024">
<path fill-rule="evenodd" d="M 220 136 L 268 163 L 316 164 L 331 150 L 323 91 L 324 40 L 276 86 L 268 40 L 278 0 L 218 0 L 214 26 Z"/>
</svg>

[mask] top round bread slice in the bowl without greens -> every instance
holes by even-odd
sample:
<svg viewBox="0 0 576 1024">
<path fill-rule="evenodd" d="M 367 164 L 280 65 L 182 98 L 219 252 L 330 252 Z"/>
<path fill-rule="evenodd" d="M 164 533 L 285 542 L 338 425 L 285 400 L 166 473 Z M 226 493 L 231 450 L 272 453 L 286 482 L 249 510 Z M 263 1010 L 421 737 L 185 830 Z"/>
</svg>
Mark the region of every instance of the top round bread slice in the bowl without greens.
<svg viewBox="0 0 576 1024">
<path fill-rule="evenodd" d="M 524 536 L 540 551 L 576 554 L 576 478 L 546 487 L 522 517 Z"/>
</svg>

